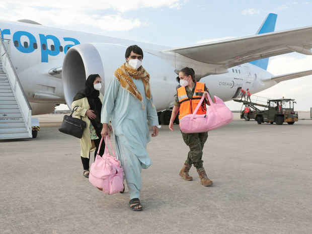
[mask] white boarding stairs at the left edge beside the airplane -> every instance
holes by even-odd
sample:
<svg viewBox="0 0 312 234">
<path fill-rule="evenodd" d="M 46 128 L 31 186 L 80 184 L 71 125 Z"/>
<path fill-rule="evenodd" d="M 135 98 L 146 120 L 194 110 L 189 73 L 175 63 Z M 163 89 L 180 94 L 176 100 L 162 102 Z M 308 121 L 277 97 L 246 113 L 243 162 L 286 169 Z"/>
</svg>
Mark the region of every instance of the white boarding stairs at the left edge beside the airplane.
<svg viewBox="0 0 312 234">
<path fill-rule="evenodd" d="M 0 140 L 32 137 L 31 107 L 9 49 L 10 40 L 0 40 Z"/>
</svg>

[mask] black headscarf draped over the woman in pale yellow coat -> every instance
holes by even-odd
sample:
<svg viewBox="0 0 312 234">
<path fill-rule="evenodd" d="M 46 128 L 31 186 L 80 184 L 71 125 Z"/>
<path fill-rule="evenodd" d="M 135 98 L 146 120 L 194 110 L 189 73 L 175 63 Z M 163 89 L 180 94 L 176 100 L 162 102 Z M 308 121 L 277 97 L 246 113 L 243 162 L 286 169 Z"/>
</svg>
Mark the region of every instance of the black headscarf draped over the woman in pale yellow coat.
<svg viewBox="0 0 312 234">
<path fill-rule="evenodd" d="M 79 91 L 72 101 L 76 101 L 82 98 L 87 97 L 88 103 L 90 105 L 90 110 L 94 111 L 94 114 L 97 116 L 95 119 L 90 119 L 92 126 L 94 127 L 98 137 L 101 138 L 102 123 L 101 123 L 101 110 L 102 102 L 99 98 L 100 91 L 94 89 L 93 83 L 97 77 L 100 77 L 99 74 L 91 74 L 85 83 L 85 89 Z"/>
</svg>

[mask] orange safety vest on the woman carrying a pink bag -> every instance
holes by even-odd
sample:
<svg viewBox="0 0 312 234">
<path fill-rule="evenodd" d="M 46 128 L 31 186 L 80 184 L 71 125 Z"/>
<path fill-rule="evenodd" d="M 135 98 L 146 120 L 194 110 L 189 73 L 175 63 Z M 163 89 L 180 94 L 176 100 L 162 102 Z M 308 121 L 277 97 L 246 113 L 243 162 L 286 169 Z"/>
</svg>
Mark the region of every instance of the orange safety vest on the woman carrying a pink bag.
<svg viewBox="0 0 312 234">
<path fill-rule="evenodd" d="M 196 82 L 194 94 L 191 99 L 188 98 L 185 87 L 180 87 L 177 91 L 180 104 L 179 109 L 179 120 L 180 120 L 188 114 L 193 114 L 193 111 L 196 109 L 200 99 L 204 94 L 205 84 Z M 206 114 L 206 102 L 202 102 L 201 107 L 197 111 L 197 115 L 202 114 Z"/>
</svg>

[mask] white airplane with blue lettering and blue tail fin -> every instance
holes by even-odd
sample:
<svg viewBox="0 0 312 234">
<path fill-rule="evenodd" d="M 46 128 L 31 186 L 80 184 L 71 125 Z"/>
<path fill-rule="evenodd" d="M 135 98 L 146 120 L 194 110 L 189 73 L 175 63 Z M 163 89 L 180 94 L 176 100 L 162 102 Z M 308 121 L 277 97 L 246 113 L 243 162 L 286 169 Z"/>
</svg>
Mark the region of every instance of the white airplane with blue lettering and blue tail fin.
<svg viewBox="0 0 312 234">
<path fill-rule="evenodd" d="M 56 29 L 31 20 L 0 21 L 0 32 L 32 115 L 51 113 L 59 104 L 70 108 L 91 73 L 102 77 L 104 94 L 114 70 L 125 61 L 125 49 L 137 44 L 144 52 L 142 65 L 150 73 L 154 105 L 162 122 L 168 124 L 176 77 L 183 67 L 192 67 L 196 80 L 223 101 L 237 98 L 241 89 L 256 94 L 279 82 L 312 74 L 306 70 L 274 76 L 267 71 L 270 56 L 312 54 L 312 26 L 274 32 L 276 19 L 276 14 L 268 14 L 253 36 L 180 48 Z M 4 96 L 1 91 L 0 77 L 0 97 Z M 4 103 L 6 99 L 0 100 Z M 2 120 L 10 122 L 5 109 L 0 105 L 0 129 Z"/>
</svg>

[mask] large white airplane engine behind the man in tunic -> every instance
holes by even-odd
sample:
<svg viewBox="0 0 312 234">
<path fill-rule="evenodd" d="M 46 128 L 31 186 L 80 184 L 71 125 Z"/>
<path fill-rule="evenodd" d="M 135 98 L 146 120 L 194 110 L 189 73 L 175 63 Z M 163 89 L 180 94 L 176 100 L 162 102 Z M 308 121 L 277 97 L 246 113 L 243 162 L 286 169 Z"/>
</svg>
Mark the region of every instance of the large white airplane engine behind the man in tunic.
<svg viewBox="0 0 312 234">
<path fill-rule="evenodd" d="M 90 43 L 73 46 L 67 51 L 62 66 L 62 85 L 69 108 L 75 94 L 84 89 L 90 74 L 101 76 L 101 93 L 104 94 L 114 71 L 125 62 L 126 48 L 124 45 Z M 158 110 L 164 110 L 170 107 L 176 94 L 177 74 L 162 58 L 148 52 L 143 55 L 142 65 L 150 74 L 153 103 Z"/>
</svg>

